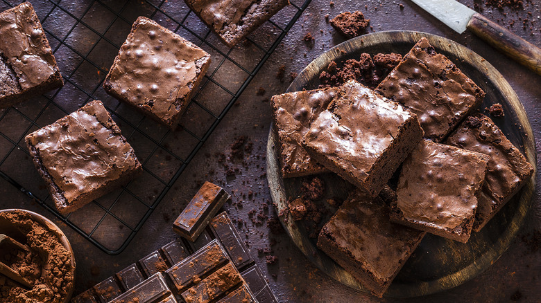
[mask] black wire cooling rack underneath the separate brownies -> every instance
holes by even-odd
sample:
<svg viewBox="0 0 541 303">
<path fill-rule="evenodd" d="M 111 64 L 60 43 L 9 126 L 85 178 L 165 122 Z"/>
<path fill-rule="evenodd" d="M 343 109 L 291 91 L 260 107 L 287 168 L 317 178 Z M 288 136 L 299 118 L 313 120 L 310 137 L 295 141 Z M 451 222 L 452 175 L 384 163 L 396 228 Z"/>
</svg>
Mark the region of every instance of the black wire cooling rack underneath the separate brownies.
<svg viewBox="0 0 541 303">
<path fill-rule="evenodd" d="M 110 255 L 122 252 L 164 199 L 311 0 L 291 0 L 246 41 L 227 48 L 182 0 L 31 1 L 60 72 L 62 89 L 0 110 L 0 176 Z M 0 1 L 6 10 L 21 1 Z M 177 131 L 141 116 L 101 85 L 132 23 L 146 16 L 205 49 L 212 64 Z M 24 137 L 101 100 L 135 149 L 144 172 L 126 186 L 62 216 L 37 174 Z"/>
</svg>

